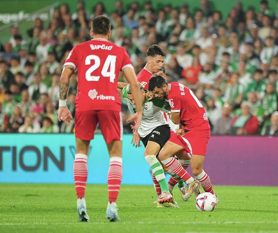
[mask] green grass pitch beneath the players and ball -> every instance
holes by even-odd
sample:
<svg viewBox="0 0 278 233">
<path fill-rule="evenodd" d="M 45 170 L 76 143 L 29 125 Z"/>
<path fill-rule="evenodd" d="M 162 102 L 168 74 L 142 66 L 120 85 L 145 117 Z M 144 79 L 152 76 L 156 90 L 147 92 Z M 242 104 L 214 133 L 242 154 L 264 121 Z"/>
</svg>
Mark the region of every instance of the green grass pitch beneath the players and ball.
<svg viewBox="0 0 278 233">
<path fill-rule="evenodd" d="M 200 212 L 194 198 L 181 208 L 156 208 L 152 186 L 122 185 L 118 197 L 120 222 L 105 219 L 107 186 L 89 184 L 86 202 L 90 222 L 79 222 L 74 185 L 0 184 L 1 233 L 185 233 L 278 232 L 278 187 L 215 186 L 220 203 Z"/>
</svg>

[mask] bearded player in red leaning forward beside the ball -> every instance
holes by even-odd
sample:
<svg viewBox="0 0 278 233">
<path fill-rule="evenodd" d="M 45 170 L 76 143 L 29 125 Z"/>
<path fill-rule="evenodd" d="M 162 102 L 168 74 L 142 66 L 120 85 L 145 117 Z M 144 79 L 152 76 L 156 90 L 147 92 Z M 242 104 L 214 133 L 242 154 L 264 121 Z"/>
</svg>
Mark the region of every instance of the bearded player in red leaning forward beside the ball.
<svg viewBox="0 0 278 233">
<path fill-rule="evenodd" d="M 171 108 L 169 117 L 173 123 L 180 124 L 177 134 L 174 134 L 161 149 L 159 159 L 189 184 L 186 199 L 194 193 L 199 183 L 205 192 L 214 194 L 210 178 L 202 168 L 210 138 L 208 116 L 202 104 L 192 90 L 181 83 L 167 83 L 161 76 L 154 76 L 149 80 L 149 90 L 153 97 L 168 100 Z M 191 169 L 196 180 L 172 157 L 181 150 L 192 154 Z M 216 199 L 218 203 L 217 196 Z"/>
</svg>

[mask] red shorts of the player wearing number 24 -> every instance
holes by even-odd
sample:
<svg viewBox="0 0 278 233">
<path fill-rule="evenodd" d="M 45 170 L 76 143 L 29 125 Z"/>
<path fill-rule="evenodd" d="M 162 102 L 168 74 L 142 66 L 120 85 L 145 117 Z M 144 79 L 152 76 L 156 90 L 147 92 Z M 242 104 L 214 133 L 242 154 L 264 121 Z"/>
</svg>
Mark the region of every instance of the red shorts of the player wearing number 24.
<svg viewBox="0 0 278 233">
<path fill-rule="evenodd" d="M 75 136 L 86 141 L 92 140 L 97 123 L 106 143 L 123 140 L 121 113 L 109 110 L 76 112 Z"/>
</svg>

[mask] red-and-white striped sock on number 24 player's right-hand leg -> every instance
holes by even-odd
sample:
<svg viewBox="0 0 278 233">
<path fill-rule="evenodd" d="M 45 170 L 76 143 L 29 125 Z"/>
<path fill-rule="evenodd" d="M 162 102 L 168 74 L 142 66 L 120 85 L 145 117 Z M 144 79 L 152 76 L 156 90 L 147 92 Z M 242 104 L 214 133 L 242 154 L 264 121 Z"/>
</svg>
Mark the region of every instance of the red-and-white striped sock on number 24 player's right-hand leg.
<svg viewBox="0 0 278 233">
<path fill-rule="evenodd" d="M 116 202 L 123 177 L 123 159 L 121 157 L 111 157 L 107 174 L 108 199 Z"/>
</svg>

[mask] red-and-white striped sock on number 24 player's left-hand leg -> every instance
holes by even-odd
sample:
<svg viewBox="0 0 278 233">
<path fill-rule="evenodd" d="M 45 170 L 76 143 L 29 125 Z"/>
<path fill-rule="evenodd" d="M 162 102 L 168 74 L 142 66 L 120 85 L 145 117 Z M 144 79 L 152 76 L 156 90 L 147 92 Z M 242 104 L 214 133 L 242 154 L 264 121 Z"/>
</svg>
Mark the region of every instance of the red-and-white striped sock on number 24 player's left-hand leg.
<svg viewBox="0 0 278 233">
<path fill-rule="evenodd" d="M 88 156 L 76 154 L 73 162 L 73 176 L 77 198 L 84 198 L 86 182 L 88 177 Z"/>
</svg>

